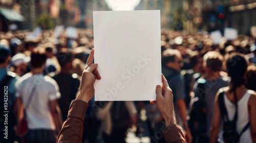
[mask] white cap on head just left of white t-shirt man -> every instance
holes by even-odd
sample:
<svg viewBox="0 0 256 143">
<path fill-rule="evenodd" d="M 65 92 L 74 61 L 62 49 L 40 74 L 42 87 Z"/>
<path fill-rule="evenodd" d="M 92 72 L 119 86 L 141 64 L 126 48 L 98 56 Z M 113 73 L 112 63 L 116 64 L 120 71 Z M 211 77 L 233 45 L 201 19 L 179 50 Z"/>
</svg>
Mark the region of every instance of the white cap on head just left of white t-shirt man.
<svg viewBox="0 0 256 143">
<path fill-rule="evenodd" d="M 28 64 L 29 62 L 30 62 L 30 57 L 27 57 L 22 53 L 18 53 L 11 58 L 11 61 L 8 67 L 18 66 L 20 64 Z"/>
</svg>

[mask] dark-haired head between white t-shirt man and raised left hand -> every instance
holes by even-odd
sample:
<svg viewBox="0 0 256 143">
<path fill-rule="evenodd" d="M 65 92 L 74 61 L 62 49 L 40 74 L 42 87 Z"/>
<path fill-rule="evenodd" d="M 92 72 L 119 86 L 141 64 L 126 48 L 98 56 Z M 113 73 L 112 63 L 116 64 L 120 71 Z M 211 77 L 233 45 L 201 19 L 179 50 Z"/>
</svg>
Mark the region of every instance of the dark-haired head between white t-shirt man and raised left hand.
<svg viewBox="0 0 256 143">
<path fill-rule="evenodd" d="M 56 57 L 58 59 L 59 65 L 61 68 L 65 67 L 66 64 L 72 61 L 73 55 L 71 50 L 67 48 L 61 48 L 57 53 Z"/>
</svg>

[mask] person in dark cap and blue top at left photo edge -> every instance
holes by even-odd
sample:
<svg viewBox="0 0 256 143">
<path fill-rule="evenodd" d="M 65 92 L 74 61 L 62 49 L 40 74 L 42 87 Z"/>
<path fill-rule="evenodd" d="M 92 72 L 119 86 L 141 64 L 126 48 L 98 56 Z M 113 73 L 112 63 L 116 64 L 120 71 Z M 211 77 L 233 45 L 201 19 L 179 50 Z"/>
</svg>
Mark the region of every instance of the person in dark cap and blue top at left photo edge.
<svg viewBox="0 0 256 143">
<path fill-rule="evenodd" d="M 0 45 L 0 103 L 1 103 L 1 116 L 0 116 L 0 134 L 1 138 L 4 139 L 4 142 L 13 142 L 15 138 L 14 125 L 15 125 L 15 116 L 14 116 L 14 103 L 15 103 L 15 82 L 17 81 L 15 73 L 7 71 L 7 65 L 11 59 L 11 52 L 7 45 Z M 8 108 L 4 106 L 7 105 Z M 8 111 L 8 126 L 4 124 L 6 116 L 4 116 L 4 111 Z M 6 128 L 7 127 L 7 128 Z M 8 139 L 4 138 L 6 133 L 4 130 L 8 130 Z"/>
</svg>

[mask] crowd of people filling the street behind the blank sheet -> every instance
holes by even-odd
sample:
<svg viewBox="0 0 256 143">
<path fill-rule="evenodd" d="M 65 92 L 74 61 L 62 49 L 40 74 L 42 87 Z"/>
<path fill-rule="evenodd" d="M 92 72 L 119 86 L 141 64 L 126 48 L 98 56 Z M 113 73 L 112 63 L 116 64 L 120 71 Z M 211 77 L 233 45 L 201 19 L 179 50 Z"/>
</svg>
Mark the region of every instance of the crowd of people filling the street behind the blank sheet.
<svg viewBox="0 0 256 143">
<path fill-rule="evenodd" d="M 172 89 L 177 124 L 186 142 L 256 142 L 255 43 L 246 35 L 223 37 L 216 44 L 207 32 L 161 31 L 162 74 Z M 8 100 L 1 97 L 1 106 L 8 105 L 9 111 L 6 142 L 56 142 L 59 132 L 71 128 L 82 142 L 125 142 L 129 128 L 143 136 L 138 124 L 142 110 L 151 142 L 168 142 L 163 110 L 149 101 L 95 102 L 91 97 L 82 100 L 88 107 L 72 103 L 78 94 L 88 94 L 78 90 L 80 84 L 94 83 L 80 83 L 93 47 L 92 29 L 78 29 L 74 37 L 65 31 L 56 36 L 53 30 L 34 36 L 29 31 L 0 32 L 0 85 L 8 86 Z M 76 104 L 84 108 L 69 111 Z M 24 116 L 26 135 L 20 133 Z M 72 116 L 81 118 L 81 124 L 62 127 Z M 81 126 L 83 130 L 77 130 Z M 4 120 L 0 128 L 4 135 Z M 59 138 L 64 142 L 71 136 Z"/>
</svg>

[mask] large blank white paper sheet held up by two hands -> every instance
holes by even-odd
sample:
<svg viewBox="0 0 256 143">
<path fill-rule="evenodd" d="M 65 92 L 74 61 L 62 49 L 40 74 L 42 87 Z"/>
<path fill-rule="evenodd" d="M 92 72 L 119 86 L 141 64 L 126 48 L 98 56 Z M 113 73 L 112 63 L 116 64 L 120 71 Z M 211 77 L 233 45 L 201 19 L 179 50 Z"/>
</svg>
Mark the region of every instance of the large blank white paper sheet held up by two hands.
<svg viewBox="0 0 256 143">
<path fill-rule="evenodd" d="M 94 11 L 95 101 L 156 100 L 161 85 L 160 10 Z"/>
</svg>

